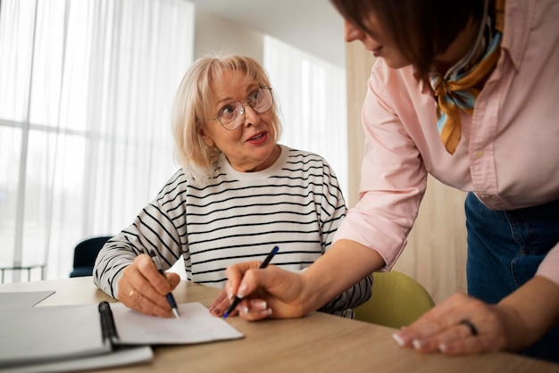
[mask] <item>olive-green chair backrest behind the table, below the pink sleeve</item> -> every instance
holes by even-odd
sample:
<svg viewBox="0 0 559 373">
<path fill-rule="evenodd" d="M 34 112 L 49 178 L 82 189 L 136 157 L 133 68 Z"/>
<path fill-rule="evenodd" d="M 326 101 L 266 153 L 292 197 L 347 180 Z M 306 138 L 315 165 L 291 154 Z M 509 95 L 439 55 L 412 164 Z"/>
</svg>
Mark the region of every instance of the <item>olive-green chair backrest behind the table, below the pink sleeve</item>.
<svg viewBox="0 0 559 373">
<path fill-rule="evenodd" d="M 385 327 L 404 327 L 435 303 L 423 286 L 402 272 L 374 272 L 371 298 L 355 309 L 355 319 Z"/>
</svg>

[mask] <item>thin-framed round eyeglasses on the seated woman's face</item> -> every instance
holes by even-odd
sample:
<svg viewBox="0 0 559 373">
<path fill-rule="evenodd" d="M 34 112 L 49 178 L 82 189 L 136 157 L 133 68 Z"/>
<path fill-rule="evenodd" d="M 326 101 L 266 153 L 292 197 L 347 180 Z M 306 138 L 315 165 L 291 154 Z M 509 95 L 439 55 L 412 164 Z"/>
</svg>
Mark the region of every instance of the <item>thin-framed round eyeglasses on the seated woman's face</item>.
<svg viewBox="0 0 559 373">
<path fill-rule="evenodd" d="M 232 131 L 239 128 L 245 123 L 245 105 L 248 104 L 254 112 L 263 114 L 271 109 L 273 104 L 273 95 L 271 95 L 271 87 L 259 87 L 252 91 L 244 103 L 234 101 L 223 106 L 217 113 L 217 116 L 209 120 L 219 120 L 221 126 Z"/>
</svg>

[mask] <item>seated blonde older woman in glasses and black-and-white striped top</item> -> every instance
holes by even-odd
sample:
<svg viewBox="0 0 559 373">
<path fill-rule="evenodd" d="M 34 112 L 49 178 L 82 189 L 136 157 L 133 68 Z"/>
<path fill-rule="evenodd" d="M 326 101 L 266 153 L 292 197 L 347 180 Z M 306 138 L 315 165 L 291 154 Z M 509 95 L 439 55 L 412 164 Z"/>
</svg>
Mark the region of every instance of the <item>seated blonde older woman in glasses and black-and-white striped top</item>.
<svg viewBox="0 0 559 373">
<path fill-rule="evenodd" d="M 182 257 L 189 281 L 222 287 L 225 269 L 262 261 L 301 271 L 326 253 L 346 214 L 338 179 L 321 156 L 277 143 L 280 120 L 270 81 L 253 59 L 229 54 L 190 67 L 173 105 L 181 168 L 129 228 L 104 245 L 94 282 L 132 309 L 168 317 L 179 275 L 161 276 L 149 254 L 170 268 Z M 321 311 L 353 317 L 371 296 L 367 276 Z M 213 305 L 229 305 L 221 292 Z M 270 314 L 265 303 L 254 308 Z M 233 313 L 235 313 L 234 311 Z"/>
</svg>

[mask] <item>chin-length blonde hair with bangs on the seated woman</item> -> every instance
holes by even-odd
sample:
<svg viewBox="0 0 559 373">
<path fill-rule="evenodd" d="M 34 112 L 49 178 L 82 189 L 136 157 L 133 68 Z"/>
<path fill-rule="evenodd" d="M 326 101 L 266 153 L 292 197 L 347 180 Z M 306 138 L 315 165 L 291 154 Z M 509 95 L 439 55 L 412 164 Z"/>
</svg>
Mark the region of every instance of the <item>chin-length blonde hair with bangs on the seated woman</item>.
<svg viewBox="0 0 559 373">
<path fill-rule="evenodd" d="M 225 71 L 237 71 L 247 82 L 260 86 L 270 85 L 263 66 L 253 58 L 239 54 L 213 54 L 194 62 L 180 82 L 171 112 L 175 157 L 189 181 L 204 185 L 215 173 L 215 165 L 221 150 L 207 146 L 200 135 L 214 101 L 212 83 L 221 79 Z M 275 128 L 277 142 L 281 135 L 281 123 L 276 100 L 271 107 L 271 125 Z"/>
</svg>

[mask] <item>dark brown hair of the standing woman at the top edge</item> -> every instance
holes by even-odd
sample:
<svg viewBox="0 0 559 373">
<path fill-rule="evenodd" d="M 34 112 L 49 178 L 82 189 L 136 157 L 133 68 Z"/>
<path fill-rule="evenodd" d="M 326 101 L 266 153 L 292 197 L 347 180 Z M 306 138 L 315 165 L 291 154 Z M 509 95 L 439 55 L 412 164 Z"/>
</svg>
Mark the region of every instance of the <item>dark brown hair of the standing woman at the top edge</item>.
<svg viewBox="0 0 559 373">
<path fill-rule="evenodd" d="M 346 21 L 372 33 L 367 17 L 380 27 L 405 57 L 425 72 L 446 51 L 468 21 L 483 17 L 485 0 L 330 0 Z M 490 9 L 493 1 L 489 0 Z"/>
</svg>

